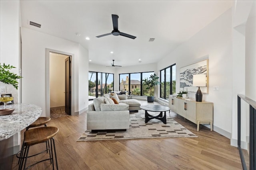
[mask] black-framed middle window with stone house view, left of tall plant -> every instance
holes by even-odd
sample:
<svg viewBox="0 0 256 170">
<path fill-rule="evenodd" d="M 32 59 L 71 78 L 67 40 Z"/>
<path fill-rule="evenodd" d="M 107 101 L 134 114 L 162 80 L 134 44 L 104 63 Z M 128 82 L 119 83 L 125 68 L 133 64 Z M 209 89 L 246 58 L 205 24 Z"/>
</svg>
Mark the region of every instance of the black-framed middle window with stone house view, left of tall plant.
<svg viewBox="0 0 256 170">
<path fill-rule="evenodd" d="M 134 96 L 147 96 L 149 90 L 144 85 L 145 78 L 150 78 L 154 72 L 137 72 L 119 74 L 119 90 L 131 93 Z"/>
</svg>

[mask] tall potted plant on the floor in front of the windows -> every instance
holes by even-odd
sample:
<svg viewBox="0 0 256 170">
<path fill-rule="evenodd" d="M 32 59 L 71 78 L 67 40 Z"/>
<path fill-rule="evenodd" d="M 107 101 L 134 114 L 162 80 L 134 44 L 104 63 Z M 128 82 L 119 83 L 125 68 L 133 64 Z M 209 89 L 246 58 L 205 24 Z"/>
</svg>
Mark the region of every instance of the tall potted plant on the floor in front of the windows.
<svg viewBox="0 0 256 170">
<path fill-rule="evenodd" d="M 146 90 L 149 90 L 149 96 L 147 96 L 147 101 L 148 102 L 154 102 L 154 94 L 152 94 L 152 89 L 154 88 L 154 86 L 160 84 L 160 82 L 158 82 L 158 76 L 156 76 L 156 74 L 151 74 L 150 78 L 145 78 L 145 80 L 142 80 L 142 82 L 144 82 L 144 85 L 146 85 Z"/>
</svg>

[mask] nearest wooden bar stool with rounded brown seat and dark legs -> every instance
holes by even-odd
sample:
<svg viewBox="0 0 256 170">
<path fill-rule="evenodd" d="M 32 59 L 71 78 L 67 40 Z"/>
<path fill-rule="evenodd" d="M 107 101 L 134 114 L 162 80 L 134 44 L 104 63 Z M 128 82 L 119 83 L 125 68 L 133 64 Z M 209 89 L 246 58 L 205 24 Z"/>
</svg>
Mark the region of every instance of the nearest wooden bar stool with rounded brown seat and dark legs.
<svg viewBox="0 0 256 170">
<path fill-rule="evenodd" d="M 54 155 L 55 155 L 55 162 L 56 162 L 56 168 L 58 170 L 58 162 L 57 162 L 57 156 L 56 156 L 56 148 L 55 148 L 55 141 L 54 141 L 54 136 L 58 133 L 59 129 L 57 127 L 39 127 L 39 128 L 35 128 L 35 129 L 30 129 L 28 131 L 24 132 L 24 153 L 21 156 L 21 163 L 19 165 L 19 170 L 22 170 L 23 167 L 23 163 L 24 163 L 24 170 L 28 169 L 32 166 L 34 166 L 35 164 L 38 164 L 40 162 L 46 161 L 46 160 L 50 160 L 51 164 L 52 164 L 52 168 L 54 170 L 54 158 L 53 158 L 53 152 L 52 152 L 52 147 L 54 149 Z M 28 167 L 26 167 L 26 163 L 27 163 L 27 159 L 28 159 L 28 152 L 29 149 L 32 145 L 36 145 L 39 143 L 43 143 L 50 140 L 50 158 L 48 159 L 44 159 L 44 160 L 40 160 Z"/>
</svg>

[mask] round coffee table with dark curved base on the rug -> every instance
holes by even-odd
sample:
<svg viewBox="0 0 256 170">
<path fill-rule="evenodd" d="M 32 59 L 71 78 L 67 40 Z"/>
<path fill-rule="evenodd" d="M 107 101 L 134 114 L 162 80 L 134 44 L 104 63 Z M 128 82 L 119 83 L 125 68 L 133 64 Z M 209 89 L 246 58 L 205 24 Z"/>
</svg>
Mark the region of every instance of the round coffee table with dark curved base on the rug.
<svg viewBox="0 0 256 170">
<path fill-rule="evenodd" d="M 158 119 L 166 124 L 166 111 L 169 111 L 170 108 L 162 105 L 148 104 L 140 106 L 142 110 L 145 110 L 145 123 L 148 123 L 151 119 Z M 148 113 L 148 111 L 160 112 L 157 116 L 152 116 Z M 164 116 L 163 116 L 164 111 Z"/>
</svg>

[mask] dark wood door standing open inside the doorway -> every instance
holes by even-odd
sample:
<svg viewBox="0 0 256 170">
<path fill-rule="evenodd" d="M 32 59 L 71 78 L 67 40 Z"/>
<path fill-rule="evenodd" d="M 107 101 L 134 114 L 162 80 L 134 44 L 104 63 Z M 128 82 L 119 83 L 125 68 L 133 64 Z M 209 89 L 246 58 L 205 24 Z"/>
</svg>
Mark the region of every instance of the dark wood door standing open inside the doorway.
<svg viewBox="0 0 256 170">
<path fill-rule="evenodd" d="M 71 74 L 70 56 L 65 59 L 65 112 L 71 115 Z"/>
</svg>

